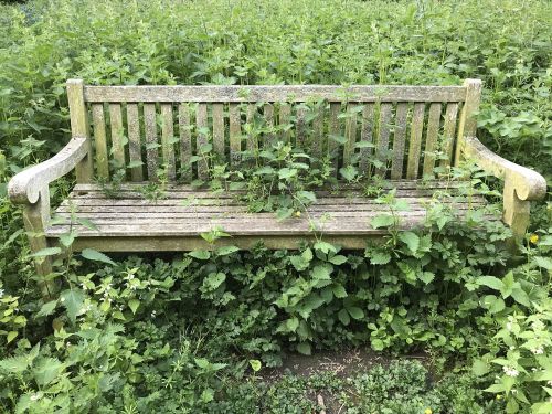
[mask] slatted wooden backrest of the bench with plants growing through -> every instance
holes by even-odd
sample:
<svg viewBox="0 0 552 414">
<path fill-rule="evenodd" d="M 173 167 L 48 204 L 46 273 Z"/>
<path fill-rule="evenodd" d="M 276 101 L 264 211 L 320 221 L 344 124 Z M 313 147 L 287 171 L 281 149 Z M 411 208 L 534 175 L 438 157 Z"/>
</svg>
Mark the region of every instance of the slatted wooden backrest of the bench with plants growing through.
<svg viewBox="0 0 552 414">
<path fill-rule="evenodd" d="M 129 181 L 208 177 L 190 159 L 212 148 L 238 164 L 242 151 L 290 141 L 314 157 L 329 155 L 337 169 L 391 179 L 416 179 L 454 166 L 459 140 L 475 134 L 480 82 L 463 86 L 86 86 L 67 82 L 72 131 L 91 139 L 92 157 L 77 180 L 109 179 L 129 166 Z M 256 134 L 261 131 L 262 134 Z M 371 145 L 358 144 L 371 142 Z M 250 152 L 252 153 L 252 152 Z M 369 160 L 376 159 L 375 166 Z"/>
</svg>

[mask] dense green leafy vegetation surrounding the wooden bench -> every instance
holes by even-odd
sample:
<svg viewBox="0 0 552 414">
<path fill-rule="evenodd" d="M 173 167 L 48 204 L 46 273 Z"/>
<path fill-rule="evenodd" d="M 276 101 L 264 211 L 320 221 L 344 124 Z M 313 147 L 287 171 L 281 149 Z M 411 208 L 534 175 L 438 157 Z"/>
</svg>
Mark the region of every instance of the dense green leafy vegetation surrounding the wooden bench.
<svg viewBox="0 0 552 414">
<path fill-rule="evenodd" d="M 349 413 L 552 411 L 546 202 L 533 210 L 518 254 L 505 248 L 501 224 L 474 212 L 459 225 L 436 204 L 423 229 L 390 231 L 364 252 L 318 242 L 300 252 L 70 254 L 56 266 L 61 294 L 44 300 L 21 213 L 6 197 L 10 177 L 68 139 L 70 77 L 442 85 L 477 77 L 480 138 L 551 182 L 548 1 L 36 0 L 1 6 L 0 21 L 1 411 L 302 413 L 316 410 L 319 393 Z M 470 185 L 493 184 L 476 177 Z M 70 185 L 57 182 L 54 199 Z M 400 361 L 348 379 L 263 376 L 290 352 L 347 347 L 424 351 L 432 374 Z"/>
</svg>

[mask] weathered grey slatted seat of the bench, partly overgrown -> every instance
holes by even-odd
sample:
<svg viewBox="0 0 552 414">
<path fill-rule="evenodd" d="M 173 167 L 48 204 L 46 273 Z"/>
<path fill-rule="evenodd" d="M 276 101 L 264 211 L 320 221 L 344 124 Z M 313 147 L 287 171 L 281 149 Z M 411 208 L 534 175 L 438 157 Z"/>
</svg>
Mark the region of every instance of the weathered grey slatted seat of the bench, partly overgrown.
<svg viewBox="0 0 552 414">
<path fill-rule="evenodd" d="M 78 234 L 77 250 L 128 252 L 205 247 L 200 234 L 217 226 L 232 236 L 222 238 L 221 244 L 243 248 L 259 240 L 273 248 L 297 248 L 302 240 L 312 240 L 317 234 L 343 247 L 362 248 L 367 238 L 389 233 L 371 225 L 373 217 L 390 212 L 389 206 L 347 185 L 340 185 L 339 191 L 316 191 L 317 201 L 307 209 L 308 214 L 302 212 L 300 216 L 279 221 L 274 212 L 248 212 L 238 199 L 238 191 L 213 193 L 172 184 L 166 189 L 164 198 L 156 201 L 147 200 L 140 192 L 145 184 L 125 183 L 116 198 L 106 197 L 96 184 L 77 184 L 55 210 L 56 219 L 46 227 L 46 237 L 56 245 L 56 238 L 73 229 Z M 381 190 L 383 194 L 395 188 L 395 200 L 404 200 L 408 205 L 407 211 L 397 212 L 399 227 L 403 230 L 421 225 L 428 205 L 440 193 L 439 202 L 454 206 L 460 217 L 486 203 L 480 195 L 469 199 L 459 195 L 457 183 L 450 182 L 401 180 L 390 181 L 385 187 Z M 95 227 L 71 223 L 72 212 Z"/>
</svg>

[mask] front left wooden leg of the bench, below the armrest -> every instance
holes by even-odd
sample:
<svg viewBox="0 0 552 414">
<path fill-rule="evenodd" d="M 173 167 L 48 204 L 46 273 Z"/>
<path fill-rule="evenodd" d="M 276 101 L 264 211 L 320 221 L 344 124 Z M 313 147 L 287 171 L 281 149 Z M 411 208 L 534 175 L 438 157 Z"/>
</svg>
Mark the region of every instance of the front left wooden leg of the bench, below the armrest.
<svg viewBox="0 0 552 414">
<path fill-rule="evenodd" d="M 23 208 L 23 222 L 29 236 L 31 252 L 35 253 L 47 247 L 44 229 L 50 217 L 50 194 L 47 188 L 41 191 L 39 201 Z M 35 257 L 34 266 L 39 277 L 39 288 L 44 300 L 51 300 L 57 290 L 54 280 L 46 280 L 52 273 L 52 257 Z"/>
</svg>

